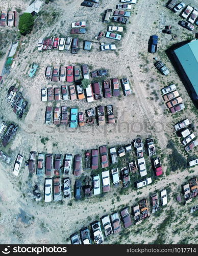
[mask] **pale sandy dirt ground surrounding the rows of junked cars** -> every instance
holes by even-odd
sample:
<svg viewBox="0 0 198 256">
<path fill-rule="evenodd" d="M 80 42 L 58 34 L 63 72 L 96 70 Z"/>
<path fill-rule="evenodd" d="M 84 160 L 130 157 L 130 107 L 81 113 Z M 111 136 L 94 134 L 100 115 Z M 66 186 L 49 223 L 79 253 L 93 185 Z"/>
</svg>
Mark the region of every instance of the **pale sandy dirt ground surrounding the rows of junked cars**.
<svg viewBox="0 0 198 256">
<path fill-rule="evenodd" d="M 21 37 L 15 65 L 10 74 L 5 77 L 0 96 L 1 119 L 6 122 L 14 122 L 19 126 L 16 138 L 6 148 L 2 148 L 4 152 L 12 156 L 12 161 L 9 166 L 0 162 L 1 243 L 70 243 L 68 239 L 70 234 L 88 226 L 96 219 L 99 220 L 104 214 L 111 214 L 123 206 L 131 207 L 143 197 L 149 199 L 149 195 L 154 191 L 160 192 L 164 187 L 168 189 L 168 205 L 161 210 L 158 217 L 151 215 L 142 224 L 132 226 L 118 236 L 112 236 L 104 243 L 153 244 L 157 243 L 156 241 L 159 243 L 162 231 L 158 229 L 163 229 L 166 232 L 161 243 L 197 243 L 197 238 L 193 236 L 197 230 L 197 219 L 193 219 L 194 217 L 189 213 L 190 206 L 197 204 L 197 198 L 189 205 L 184 205 L 183 202 L 176 202 L 175 197 L 181 192 L 181 185 L 185 181 L 192 176 L 197 176 L 198 166 L 186 168 L 183 172 L 180 170 L 171 172 L 170 166 L 170 173 L 165 172 L 169 161 L 166 145 L 170 139 L 177 140 L 172 125 L 189 118 L 190 122 L 195 125 L 194 133 L 197 136 L 197 112 L 164 52 L 176 42 L 195 38 L 194 34 L 197 28 L 191 32 L 180 27 L 178 21 L 181 20 L 181 17 L 165 7 L 166 1 L 157 0 L 155 4 L 152 4 L 150 1 L 138 0 L 132 8 L 130 23 L 125 26 L 126 31 L 122 34 L 123 38 L 120 42 L 115 42 L 117 47 L 115 52 L 101 52 L 96 43 L 93 43 L 90 52 L 84 51 L 82 41 L 80 42 L 81 50 L 76 55 L 66 51 L 53 50 L 42 53 L 37 51 L 39 38 L 51 35 L 68 36 L 70 24 L 74 21 L 86 20 L 87 32 L 85 35 L 78 36 L 80 39 L 96 41 L 95 35 L 100 31 L 107 31 L 107 26 L 109 26 L 109 24 L 101 22 L 102 13 L 107 8 L 115 10 L 115 6 L 118 4 L 118 0 L 110 2 L 106 4 L 106 1 L 100 0 L 98 8 L 81 7 L 79 0 L 57 0 L 43 5 L 42 10 L 47 9 L 49 13 L 56 12 L 55 18 L 44 11 L 37 18 L 33 32 L 26 37 Z M 191 6 L 194 6 L 196 1 L 192 0 L 190 3 Z M 188 3 L 186 2 L 186 4 Z M 20 8 L 23 12 L 27 6 L 27 1 L 10 0 L 9 2 L 5 1 L 4 6 L 1 4 L 0 9 Z M 172 25 L 172 34 L 163 34 L 164 26 L 170 24 Z M 1 28 L 0 33 L 3 29 Z M 150 35 L 154 34 L 159 36 L 158 51 L 156 54 L 151 54 L 147 52 L 147 42 Z M 174 34 L 177 35 L 176 39 L 172 39 Z M 114 43 L 114 40 L 107 38 L 103 38 L 101 41 Z M 162 76 L 156 70 L 153 57 L 157 57 L 167 65 L 170 70 L 167 77 Z M 33 62 L 38 63 L 39 69 L 36 76 L 30 78 L 27 72 Z M 41 102 L 41 88 L 52 85 L 54 87 L 61 86 L 60 82 L 49 82 L 45 79 L 46 66 L 74 66 L 77 63 L 87 63 L 90 71 L 105 68 L 108 70 L 109 78 L 128 77 L 133 94 L 125 97 L 121 93 L 120 98 L 103 98 L 100 102 L 92 103 L 87 103 L 85 100 L 68 100 L 58 103 Z M 160 91 L 170 83 L 177 84 L 177 89 L 186 106 L 184 111 L 176 115 L 171 115 L 167 111 Z M 22 120 L 17 119 L 6 100 L 7 90 L 13 84 L 20 88 L 23 96 L 29 101 L 29 112 Z M 94 124 L 93 126 L 79 127 L 73 131 L 69 128 L 63 129 L 63 127 L 44 124 L 47 105 L 67 105 L 70 108 L 77 106 L 80 111 L 85 111 L 99 104 L 113 104 L 115 125 L 106 124 L 104 127 L 98 127 Z M 163 177 L 140 190 L 134 189 L 132 186 L 125 193 L 119 194 L 121 189 L 116 190 L 111 183 L 111 192 L 99 198 L 92 196 L 79 202 L 72 199 L 70 203 L 63 200 L 62 203 L 45 204 L 43 201 L 35 202 L 32 199 L 32 189 L 35 183 L 39 184 L 43 192 L 44 178 L 38 179 L 35 174 L 31 177 L 24 162 L 19 176 L 15 178 L 12 175 L 14 161 L 19 153 L 24 156 L 25 160 L 28 160 L 30 151 L 62 155 L 65 153 L 84 154 L 85 150 L 104 144 L 108 146 L 128 144 L 137 136 L 141 136 L 144 141 L 145 138 L 153 136 L 157 144 L 157 154 L 164 154 Z M 43 138 L 48 138 L 45 144 L 41 142 Z M 188 156 L 184 153 L 181 143 L 178 151 L 186 158 L 187 162 Z M 197 152 L 197 149 L 194 149 L 190 155 L 197 157 Z M 134 156 L 133 152 L 131 157 L 134 158 Z M 151 162 L 148 158 L 146 161 L 147 169 L 150 169 L 149 173 L 153 172 Z M 89 175 L 90 171 L 84 171 L 84 174 Z M 137 177 L 140 179 L 138 175 Z M 72 184 L 74 184 L 75 177 L 71 176 L 71 178 Z M 134 179 L 132 177 L 132 180 Z M 171 216 L 170 220 L 169 216 Z M 162 227 L 163 222 L 166 223 L 164 227 Z M 122 229 L 124 229 L 123 226 Z"/>
</svg>

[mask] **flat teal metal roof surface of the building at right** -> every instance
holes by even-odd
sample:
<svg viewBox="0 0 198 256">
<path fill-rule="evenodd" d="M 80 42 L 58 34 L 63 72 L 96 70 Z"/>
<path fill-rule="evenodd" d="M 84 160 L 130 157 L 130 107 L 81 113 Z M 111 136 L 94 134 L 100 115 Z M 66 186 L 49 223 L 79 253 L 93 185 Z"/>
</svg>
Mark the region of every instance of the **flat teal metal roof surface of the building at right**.
<svg viewBox="0 0 198 256">
<path fill-rule="evenodd" d="M 174 52 L 198 95 L 198 40 L 191 41 Z"/>
</svg>

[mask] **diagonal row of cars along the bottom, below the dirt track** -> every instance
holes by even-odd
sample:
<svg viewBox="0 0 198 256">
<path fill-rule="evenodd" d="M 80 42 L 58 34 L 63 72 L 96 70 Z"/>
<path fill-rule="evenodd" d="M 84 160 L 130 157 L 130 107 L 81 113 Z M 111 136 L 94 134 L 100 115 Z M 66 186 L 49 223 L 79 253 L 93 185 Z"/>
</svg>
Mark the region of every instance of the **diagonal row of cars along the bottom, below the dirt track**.
<svg viewBox="0 0 198 256">
<path fill-rule="evenodd" d="M 167 204 L 167 191 L 163 189 L 161 195 L 161 206 Z M 155 213 L 160 209 L 158 193 L 151 196 L 152 202 L 152 213 Z M 149 204 L 146 199 L 139 201 L 138 205 L 132 207 L 132 215 L 134 217 L 134 224 L 140 224 L 143 219 L 150 217 Z M 121 218 L 120 218 L 121 216 Z M 92 236 L 88 227 L 84 227 L 80 230 L 80 236 L 78 233 L 74 233 L 70 236 L 71 244 L 92 244 L 91 237 L 93 238 L 94 244 L 102 244 L 105 237 L 109 237 L 111 234 L 118 234 L 122 230 L 121 221 L 125 228 L 132 226 L 132 219 L 129 207 L 125 207 L 120 210 L 120 216 L 118 212 L 114 212 L 109 215 L 105 215 L 101 218 L 102 225 L 99 221 L 94 221 L 90 224 Z M 102 229 L 103 228 L 103 229 Z"/>
</svg>

